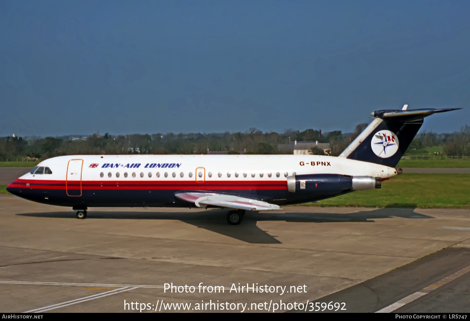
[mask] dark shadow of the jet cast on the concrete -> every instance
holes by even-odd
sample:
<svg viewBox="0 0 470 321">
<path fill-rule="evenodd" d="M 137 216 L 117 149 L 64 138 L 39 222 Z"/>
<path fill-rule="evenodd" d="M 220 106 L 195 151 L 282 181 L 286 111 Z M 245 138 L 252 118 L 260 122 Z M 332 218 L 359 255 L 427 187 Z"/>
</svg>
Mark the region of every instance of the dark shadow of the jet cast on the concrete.
<svg viewBox="0 0 470 321">
<path fill-rule="evenodd" d="M 399 208 L 398 208 L 399 207 Z M 252 244 L 281 244 L 274 235 L 270 235 L 257 226 L 262 221 L 284 221 L 301 223 L 334 223 L 334 222 L 375 222 L 374 219 L 403 217 L 410 219 L 429 219 L 432 216 L 414 213 L 415 204 L 390 204 L 384 208 L 355 213 L 258 213 L 247 211 L 240 225 L 228 225 L 225 214 L 227 209 L 209 209 L 196 213 L 188 212 L 100 212 L 89 211 L 87 220 L 93 219 L 122 219 L 122 220 L 179 220 L 200 229 L 232 237 Z M 316 208 L 318 209 L 318 208 Z M 289 211 L 289 207 L 285 208 Z M 19 216 L 70 218 L 75 215 L 68 212 L 24 213 Z"/>
</svg>

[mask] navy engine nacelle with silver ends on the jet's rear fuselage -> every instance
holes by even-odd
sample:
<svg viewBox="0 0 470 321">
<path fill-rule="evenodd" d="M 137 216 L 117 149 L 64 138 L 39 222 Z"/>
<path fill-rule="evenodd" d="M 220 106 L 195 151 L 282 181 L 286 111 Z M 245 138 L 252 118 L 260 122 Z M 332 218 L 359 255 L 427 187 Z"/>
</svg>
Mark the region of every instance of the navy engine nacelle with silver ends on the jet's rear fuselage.
<svg viewBox="0 0 470 321">
<path fill-rule="evenodd" d="M 292 193 L 341 194 L 348 191 L 381 188 L 380 177 L 340 174 L 307 174 L 287 177 L 287 190 Z"/>
</svg>

